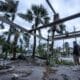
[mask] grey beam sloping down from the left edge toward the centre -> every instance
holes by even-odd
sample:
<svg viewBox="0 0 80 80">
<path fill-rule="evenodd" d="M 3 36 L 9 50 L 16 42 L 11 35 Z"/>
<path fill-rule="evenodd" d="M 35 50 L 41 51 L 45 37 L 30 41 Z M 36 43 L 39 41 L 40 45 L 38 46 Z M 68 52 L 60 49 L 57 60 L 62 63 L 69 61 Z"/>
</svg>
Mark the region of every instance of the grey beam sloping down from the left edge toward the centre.
<svg viewBox="0 0 80 80">
<path fill-rule="evenodd" d="M 19 29 L 25 31 L 26 33 L 28 33 L 29 35 L 34 35 L 32 32 L 29 32 L 29 30 L 27 30 L 27 29 L 25 29 L 25 28 L 23 28 L 23 27 L 15 24 L 15 23 L 13 23 L 12 21 L 6 19 L 5 17 L 0 16 L 0 21 L 3 21 L 4 23 L 11 25 L 11 27 L 13 27 L 13 28 L 14 28 L 14 27 L 19 28 Z M 35 36 L 47 41 L 47 39 L 44 38 L 44 37 L 42 37 L 42 36 L 40 37 L 40 36 L 37 35 L 37 34 L 36 34 Z"/>
</svg>

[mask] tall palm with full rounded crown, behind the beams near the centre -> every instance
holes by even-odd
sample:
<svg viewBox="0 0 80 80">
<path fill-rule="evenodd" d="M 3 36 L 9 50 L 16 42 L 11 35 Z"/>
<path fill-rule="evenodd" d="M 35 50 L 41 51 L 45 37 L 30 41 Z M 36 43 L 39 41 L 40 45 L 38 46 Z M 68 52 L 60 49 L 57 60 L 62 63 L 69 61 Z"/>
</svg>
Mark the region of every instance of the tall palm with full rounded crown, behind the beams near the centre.
<svg viewBox="0 0 80 80">
<path fill-rule="evenodd" d="M 32 5 L 30 10 L 27 10 L 26 14 L 19 14 L 20 17 L 27 20 L 28 22 L 33 24 L 33 28 L 37 28 L 40 24 L 46 24 L 49 21 L 48 12 L 42 6 Z M 34 44 L 33 44 L 33 54 L 32 57 L 35 57 L 35 49 L 36 49 L 36 31 L 34 31 Z"/>
</svg>

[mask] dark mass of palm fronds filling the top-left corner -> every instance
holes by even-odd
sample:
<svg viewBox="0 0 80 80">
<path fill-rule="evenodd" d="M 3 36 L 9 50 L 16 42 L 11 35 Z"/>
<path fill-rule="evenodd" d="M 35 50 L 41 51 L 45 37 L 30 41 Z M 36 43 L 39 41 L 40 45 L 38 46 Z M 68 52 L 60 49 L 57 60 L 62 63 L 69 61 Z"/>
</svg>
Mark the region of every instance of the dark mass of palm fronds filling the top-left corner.
<svg viewBox="0 0 80 80">
<path fill-rule="evenodd" d="M 19 1 L 15 0 L 5 0 L 5 2 L 0 1 L 0 11 L 3 12 L 16 12 Z"/>
</svg>

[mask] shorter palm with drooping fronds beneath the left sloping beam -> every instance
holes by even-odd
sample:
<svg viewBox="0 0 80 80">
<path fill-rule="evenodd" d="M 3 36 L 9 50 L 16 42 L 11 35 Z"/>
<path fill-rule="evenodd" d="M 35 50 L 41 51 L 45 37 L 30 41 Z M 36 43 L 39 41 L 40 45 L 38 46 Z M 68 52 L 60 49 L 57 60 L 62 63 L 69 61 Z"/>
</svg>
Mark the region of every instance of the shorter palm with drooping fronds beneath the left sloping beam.
<svg viewBox="0 0 80 80">
<path fill-rule="evenodd" d="M 22 36 L 22 38 L 21 38 Z M 15 29 L 15 34 L 14 34 L 14 41 L 13 41 L 13 58 L 12 59 L 16 59 L 16 52 L 17 52 L 17 47 L 18 47 L 18 41 L 20 41 L 20 48 L 23 51 L 24 47 L 28 47 L 29 45 L 29 39 L 30 36 L 26 33 L 23 32 L 22 30 L 19 31 L 19 29 Z M 24 42 L 26 45 L 24 45 Z"/>
</svg>

